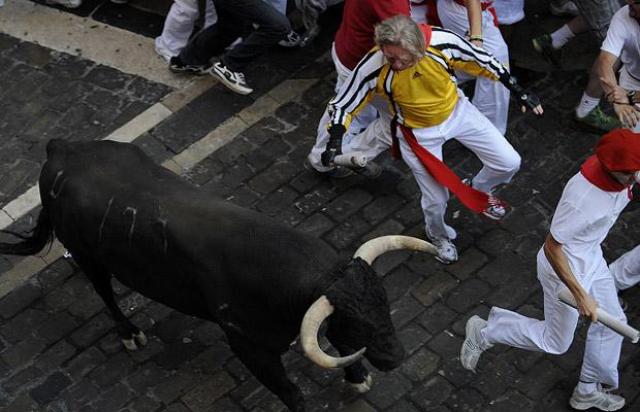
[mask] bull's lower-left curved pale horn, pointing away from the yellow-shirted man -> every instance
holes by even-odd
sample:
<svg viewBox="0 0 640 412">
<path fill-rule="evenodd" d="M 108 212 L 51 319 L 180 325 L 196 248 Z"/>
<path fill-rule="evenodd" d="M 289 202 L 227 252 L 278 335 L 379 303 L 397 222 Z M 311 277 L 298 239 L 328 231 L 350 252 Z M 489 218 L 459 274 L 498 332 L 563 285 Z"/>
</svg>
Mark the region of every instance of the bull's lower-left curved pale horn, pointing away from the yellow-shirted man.
<svg viewBox="0 0 640 412">
<path fill-rule="evenodd" d="M 326 296 L 318 300 L 307 309 L 300 326 L 300 342 L 305 355 L 315 364 L 323 368 L 344 368 L 360 360 L 367 348 L 362 348 L 348 356 L 335 357 L 328 355 L 320 348 L 318 332 L 322 322 L 333 313 L 333 305 Z"/>
</svg>

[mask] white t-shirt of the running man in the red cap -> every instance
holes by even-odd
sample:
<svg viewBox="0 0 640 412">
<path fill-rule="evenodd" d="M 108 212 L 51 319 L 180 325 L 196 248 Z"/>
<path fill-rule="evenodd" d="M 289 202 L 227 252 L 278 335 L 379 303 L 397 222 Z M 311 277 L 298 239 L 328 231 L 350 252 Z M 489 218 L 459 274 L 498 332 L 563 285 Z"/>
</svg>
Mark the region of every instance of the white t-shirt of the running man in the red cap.
<svg viewBox="0 0 640 412">
<path fill-rule="evenodd" d="M 549 231 L 562 244 L 577 279 L 592 275 L 604 262 L 600 244 L 629 200 L 627 189 L 604 191 L 580 172 L 567 182 Z"/>
</svg>

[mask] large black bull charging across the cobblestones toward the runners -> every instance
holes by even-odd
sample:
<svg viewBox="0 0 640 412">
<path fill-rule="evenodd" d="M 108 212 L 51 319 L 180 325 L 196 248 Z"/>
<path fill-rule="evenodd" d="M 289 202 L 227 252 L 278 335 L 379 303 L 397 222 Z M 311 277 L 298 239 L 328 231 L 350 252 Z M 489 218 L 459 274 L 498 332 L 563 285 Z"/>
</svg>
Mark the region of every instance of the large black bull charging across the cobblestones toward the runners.
<svg viewBox="0 0 640 412">
<path fill-rule="evenodd" d="M 385 290 L 367 262 L 340 264 L 317 238 L 203 193 L 134 145 L 52 140 L 39 184 L 37 226 L 19 243 L 0 244 L 0 253 L 37 253 L 55 234 L 104 300 L 128 349 L 146 338 L 117 307 L 112 275 L 153 300 L 217 322 L 238 358 L 294 411 L 304 410 L 304 399 L 280 357 L 299 332 L 309 358 L 345 367 L 346 380 L 360 390 L 370 377 L 358 349 L 366 347 L 364 356 L 381 370 L 404 357 Z M 326 337 L 341 358 L 317 345 L 320 323 L 331 313 Z"/>
</svg>

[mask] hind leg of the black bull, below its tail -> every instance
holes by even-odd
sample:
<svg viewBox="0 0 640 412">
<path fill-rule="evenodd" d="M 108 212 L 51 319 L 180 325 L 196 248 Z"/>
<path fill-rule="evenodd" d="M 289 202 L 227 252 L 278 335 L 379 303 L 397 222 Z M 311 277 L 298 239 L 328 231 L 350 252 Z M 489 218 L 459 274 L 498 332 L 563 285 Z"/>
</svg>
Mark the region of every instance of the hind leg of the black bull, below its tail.
<svg viewBox="0 0 640 412">
<path fill-rule="evenodd" d="M 94 263 L 90 259 L 77 256 L 75 253 L 73 254 L 73 259 L 89 278 L 94 289 L 102 298 L 107 309 L 109 309 L 109 312 L 116 323 L 118 336 L 120 336 L 124 347 L 128 350 L 137 350 L 138 345 L 145 346 L 147 344 L 147 337 L 144 332 L 138 329 L 129 319 L 127 319 L 126 316 L 124 316 L 116 303 L 113 295 L 113 288 L 111 287 L 111 274 L 107 269 L 100 264 Z"/>
</svg>

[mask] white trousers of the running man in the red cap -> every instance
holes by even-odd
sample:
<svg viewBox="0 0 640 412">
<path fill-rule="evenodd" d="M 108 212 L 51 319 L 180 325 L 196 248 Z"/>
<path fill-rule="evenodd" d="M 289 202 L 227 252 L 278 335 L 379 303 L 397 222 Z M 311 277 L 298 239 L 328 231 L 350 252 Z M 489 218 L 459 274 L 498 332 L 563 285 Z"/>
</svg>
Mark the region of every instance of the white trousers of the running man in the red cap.
<svg viewBox="0 0 640 412">
<path fill-rule="evenodd" d="M 604 259 L 594 273 L 576 277 L 602 309 L 626 322 Z M 481 332 L 487 342 L 554 355 L 569 349 L 578 324 L 578 311 L 558 300 L 558 292 L 566 286 L 555 274 L 542 250 L 538 252 L 538 280 L 544 292 L 544 320 L 493 307 L 487 327 Z M 587 333 L 580 381 L 599 382 L 616 388 L 621 347 L 622 336 L 601 323 L 592 323 Z"/>
</svg>

